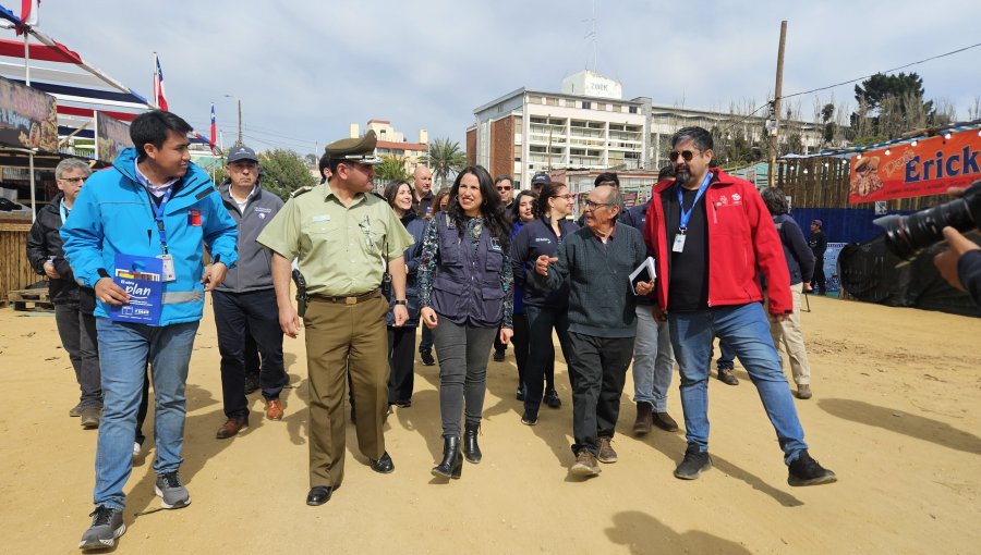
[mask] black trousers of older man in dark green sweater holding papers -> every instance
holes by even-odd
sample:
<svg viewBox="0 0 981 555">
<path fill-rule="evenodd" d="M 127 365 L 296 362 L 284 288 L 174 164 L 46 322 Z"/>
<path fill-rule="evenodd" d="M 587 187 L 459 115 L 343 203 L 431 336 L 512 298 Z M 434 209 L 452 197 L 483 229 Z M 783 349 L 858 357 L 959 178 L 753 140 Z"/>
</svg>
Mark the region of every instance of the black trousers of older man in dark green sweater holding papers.
<svg viewBox="0 0 981 555">
<path fill-rule="evenodd" d="M 572 453 L 598 452 L 600 437 L 613 437 L 620 395 L 633 357 L 633 337 L 596 337 L 569 332 L 572 356 Z"/>
</svg>

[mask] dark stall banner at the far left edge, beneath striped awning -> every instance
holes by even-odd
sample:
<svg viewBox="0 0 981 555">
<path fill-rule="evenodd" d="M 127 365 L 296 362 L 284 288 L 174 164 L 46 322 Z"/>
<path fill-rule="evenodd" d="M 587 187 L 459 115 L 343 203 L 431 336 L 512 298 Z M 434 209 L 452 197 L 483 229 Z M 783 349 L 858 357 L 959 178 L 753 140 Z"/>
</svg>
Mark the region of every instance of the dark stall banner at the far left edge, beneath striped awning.
<svg viewBox="0 0 981 555">
<path fill-rule="evenodd" d="M 57 152 L 55 97 L 0 77 L 0 144 Z"/>
</svg>

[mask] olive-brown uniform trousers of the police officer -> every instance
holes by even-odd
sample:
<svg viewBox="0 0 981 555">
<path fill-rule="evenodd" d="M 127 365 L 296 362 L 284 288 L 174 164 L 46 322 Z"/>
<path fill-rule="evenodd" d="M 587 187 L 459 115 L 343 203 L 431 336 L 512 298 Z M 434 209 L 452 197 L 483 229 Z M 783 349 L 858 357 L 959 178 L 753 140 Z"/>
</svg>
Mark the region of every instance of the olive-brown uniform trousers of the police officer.
<svg viewBox="0 0 981 555">
<path fill-rule="evenodd" d="M 344 479 L 344 398 L 348 372 L 354 393 L 358 447 L 373 459 L 385 453 L 388 409 L 388 303 L 378 295 L 356 305 L 314 298 L 306 309 L 310 383 L 310 486 L 337 488 Z"/>
</svg>

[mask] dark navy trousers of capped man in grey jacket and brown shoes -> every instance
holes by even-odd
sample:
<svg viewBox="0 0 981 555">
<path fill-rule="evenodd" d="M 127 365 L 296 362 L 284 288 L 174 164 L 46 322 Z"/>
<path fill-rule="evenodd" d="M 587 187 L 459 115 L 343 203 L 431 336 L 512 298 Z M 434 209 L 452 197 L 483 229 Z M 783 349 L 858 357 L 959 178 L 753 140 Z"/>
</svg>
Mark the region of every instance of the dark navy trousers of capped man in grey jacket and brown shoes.
<svg viewBox="0 0 981 555">
<path fill-rule="evenodd" d="M 214 291 L 215 325 L 218 330 L 218 351 L 221 354 L 221 395 L 225 416 L 249 418 L 245 398 L 245 336 L 252 334 L 262 353 L 259 383 L 263 397 L 279 397 L 289 377 L 282 365 L 282 330 L 276 292 L 262 289 L 249 293 Z M 246 332 L 247 326 L 247 332 Z"/>
</svg>

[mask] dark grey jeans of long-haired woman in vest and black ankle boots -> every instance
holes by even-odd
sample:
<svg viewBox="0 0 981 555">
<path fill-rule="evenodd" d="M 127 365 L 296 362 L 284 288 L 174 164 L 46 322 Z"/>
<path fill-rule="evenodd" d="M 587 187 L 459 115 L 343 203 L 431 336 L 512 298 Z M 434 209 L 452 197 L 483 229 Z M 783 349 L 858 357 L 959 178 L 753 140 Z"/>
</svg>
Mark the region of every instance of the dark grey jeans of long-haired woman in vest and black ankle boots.
<svg viewBox="0 0 981 555">
<path fill-rule="evenodd" d="M 440 318 L 433 330 L 439 357 L 439 414 L 443 436 L 460 436 L 460 414 L 465 421 L 480 424 L 487 391 L 487 356 L 497 328 L 458 325 Z"/>
</svg>

